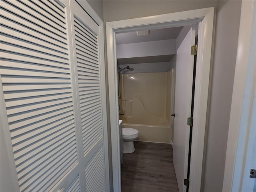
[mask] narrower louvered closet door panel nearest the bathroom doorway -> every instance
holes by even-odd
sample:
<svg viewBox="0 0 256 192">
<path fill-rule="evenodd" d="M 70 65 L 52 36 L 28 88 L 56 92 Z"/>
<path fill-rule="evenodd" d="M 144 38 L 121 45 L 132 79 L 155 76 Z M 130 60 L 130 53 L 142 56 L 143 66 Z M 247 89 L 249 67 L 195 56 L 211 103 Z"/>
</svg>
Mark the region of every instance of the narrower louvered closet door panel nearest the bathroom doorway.
<svg viewBox="0 0 256 192">
<path fill-rule="evenodd" d="M 102 92 L 99 63 L 99 26 L 75 2 L 70 2 L 75 72 L 78 76 L 80 127 L 82 130 L 82 165 L 87 192 L 104 192 Z"/>
</svg>

